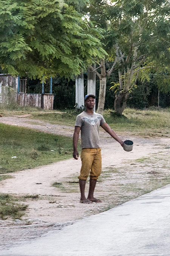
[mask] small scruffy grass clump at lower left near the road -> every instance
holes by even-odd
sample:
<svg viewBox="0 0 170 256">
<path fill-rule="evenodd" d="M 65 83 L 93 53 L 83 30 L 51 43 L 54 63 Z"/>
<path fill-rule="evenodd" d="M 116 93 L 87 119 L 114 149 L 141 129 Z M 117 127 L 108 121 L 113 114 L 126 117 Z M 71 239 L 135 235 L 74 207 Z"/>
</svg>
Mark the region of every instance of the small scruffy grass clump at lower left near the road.
<svg viewBox="0 0 170 256">
<path fill-rule="evenodd" d="M 8 194 L 0 193 L 0 218 L 2 220 L 12 217 L 12 219 L 21 219 L 25 214 L 28 205 L 17 202 L 18 198 Z"/>
</svg>

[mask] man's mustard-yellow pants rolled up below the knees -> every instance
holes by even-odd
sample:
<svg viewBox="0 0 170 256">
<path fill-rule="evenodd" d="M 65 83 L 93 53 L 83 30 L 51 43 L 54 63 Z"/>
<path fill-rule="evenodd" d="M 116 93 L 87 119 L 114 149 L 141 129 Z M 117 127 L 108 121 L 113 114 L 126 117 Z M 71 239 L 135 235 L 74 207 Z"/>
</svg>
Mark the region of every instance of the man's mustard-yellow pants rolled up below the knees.
<svg viewBox="0 0 170 256">
<path fill-rule="evenodd" d="M 82 167 L 79 179 L 98 179 L 102 170 L 102 157 L 100 148 L 83 148 L 81 152 Z"/>
</svg>

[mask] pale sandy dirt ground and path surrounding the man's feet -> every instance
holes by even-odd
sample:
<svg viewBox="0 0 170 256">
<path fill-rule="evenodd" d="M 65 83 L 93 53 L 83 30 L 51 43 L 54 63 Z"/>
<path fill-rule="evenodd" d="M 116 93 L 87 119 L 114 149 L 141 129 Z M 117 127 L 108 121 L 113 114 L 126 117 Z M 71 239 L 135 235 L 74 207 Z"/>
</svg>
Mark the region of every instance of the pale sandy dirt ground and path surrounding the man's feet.
<svg viewBox="0 0 170 256">
<path fill-rule="evenodd" d="M 73 135 L 74 130 L 73 127 L 52 125 L 27 119 L 26 116 L 2 117 L 0 122 L 69 137 Z M 40 124 L 30 124 L 30 122 Z M 168 149 L 170 138 L 143 139 L 121 136 L 122 140 L 134 141 L 133 151 L 125 152 L 107 133 L 100 131 L 100 137 L 102 175 L 97 182 L 95 196 L 100 198 L 102 203 L 79 203 L 77 176 L 81 166 L 80 158 L 9 173 L 13 179 L 0 182 L 0 193 L 10 193 L 21 198 L 28 194 L 39 195 L 39 198 L 20 200 L 21 203 L 23 201 L 28 204 L 22 221 L 0 221 L 2 247 L 9 245 L 9 241 L 22 243 L 23 240 L 39 237 L 47 231 L 60 229 L 63 225 L 70 225 L 79 218 L 102 212 L 146 193 L 146 188 L 148 190 L 154 188 L 152 181 L 153 179 L 158 181 L 162 171 L 165 179 L 168 179 L 170 162 L 167 159 L 170 154 Z M 57 187 L 52 186 L 54 182 L 58 183 Z M 88 184 L 87 182 L 86 193 L 88 193 Z M 127 186 L 131 186 L 130 191 L 126 189 Z"/>
</svg>

